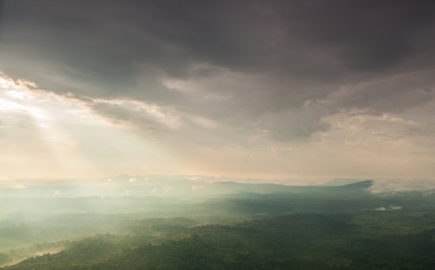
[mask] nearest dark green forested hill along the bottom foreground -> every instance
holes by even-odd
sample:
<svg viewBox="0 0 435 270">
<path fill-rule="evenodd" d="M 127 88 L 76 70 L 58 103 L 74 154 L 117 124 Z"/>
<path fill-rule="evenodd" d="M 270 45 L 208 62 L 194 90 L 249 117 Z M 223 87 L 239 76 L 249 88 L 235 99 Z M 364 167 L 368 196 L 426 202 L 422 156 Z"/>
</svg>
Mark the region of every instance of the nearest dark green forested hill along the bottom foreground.
<svg viewBox="0 0 435 270">
<path fill-rule="evenodd" d="M 193 228 L 173 221 L 153 227 L 159 239 L 136 222 L 131 235 L 88 237 L 5 269 L 434 269 L 434 229 L 374 236 L 352 219 L 290 214 Z"/>
</svg>

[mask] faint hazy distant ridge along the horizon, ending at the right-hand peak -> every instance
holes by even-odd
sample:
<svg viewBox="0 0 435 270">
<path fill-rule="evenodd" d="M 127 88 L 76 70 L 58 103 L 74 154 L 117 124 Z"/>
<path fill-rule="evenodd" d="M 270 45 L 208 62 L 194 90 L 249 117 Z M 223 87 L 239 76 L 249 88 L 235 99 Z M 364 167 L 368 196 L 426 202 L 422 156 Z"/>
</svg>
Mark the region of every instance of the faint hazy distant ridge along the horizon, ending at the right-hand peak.
<svg viewBox="0 0 435 270">
<path fill-rule="evenodd" d="M 339 181 L 340 182 L 340 181 Z M 347 182 L 341 181 L 341 182 Z M 337 180 L 332 183 L 338 183 Z M 78 185 L 79 184 L 79 185 Z M 81 184 L 81 185 L 80 185 Z M 236 194 L 315 194 L 345 195 L 368 194 L 366 189 L 373 184 L 372 180 L 355 181 L 345 185 L 309 185 L 290 186 L 272 183 L 236 183 L 211 182 L 204 183 L 188 179 L 159 180 L 124 180 L 124 181 L 89 181 L 87 183 L 57 182 L 39 185 L 28 185 L 20 189 L 0 189 L 0 198 L 54 198 L 54 197 L 89 197 L 89 196 L 217 196 Z"/>
</svg>

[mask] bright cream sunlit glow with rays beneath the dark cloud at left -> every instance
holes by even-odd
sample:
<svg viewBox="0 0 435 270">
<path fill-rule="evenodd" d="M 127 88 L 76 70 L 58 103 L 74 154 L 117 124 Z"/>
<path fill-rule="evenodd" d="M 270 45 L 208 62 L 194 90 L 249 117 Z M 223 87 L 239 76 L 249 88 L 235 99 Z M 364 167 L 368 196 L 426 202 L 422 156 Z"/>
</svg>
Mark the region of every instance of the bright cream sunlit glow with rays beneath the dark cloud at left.
<svg viewBox="0 0 435 270">
<path fill-rule="evenodd" d="M 3 178 L 95 178 L 174 168 L 158 144 L 95 115 L 79 101 L 3 74 L 0 85 Z M 162 118 L 156 108 L 140 110 Z"/>
</svg>

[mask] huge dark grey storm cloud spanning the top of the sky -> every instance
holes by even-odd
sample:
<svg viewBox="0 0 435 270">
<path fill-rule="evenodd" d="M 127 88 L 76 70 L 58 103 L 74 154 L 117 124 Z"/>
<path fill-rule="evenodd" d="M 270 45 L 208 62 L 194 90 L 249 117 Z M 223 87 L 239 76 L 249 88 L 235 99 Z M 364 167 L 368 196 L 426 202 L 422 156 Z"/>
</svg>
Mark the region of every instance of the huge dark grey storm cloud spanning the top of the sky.
<svg viewBox="0 0 435 270">
<path fill-rule="evenodd" d="M 328 125 L 317 109 L 303 112 L 307 101 L 333 96 L 325 103 L 332 106 L 320 110 L 328 115 L 361 107 L 396 112 L 433 99 L 409 94 L 416 87 L 406 82 L 338 90 L 432 68 L 434 7 L 432 1 L 10 0 L 0 67 L 79 98 L 136 99 L 231 124 L 274 123 L 265 127 L 277 126 L 278 137 L 309 136 Z M 221 69 L 242 75 L 220 80 Z M 418 89 L 433 88 L 430 75 Z M 171 89 L 165 78 L 198 81 L 201 90 Z M 397 94 L 415 98 L 389 102 Z M 270 115 L 277 119 L 263 121 Z M 286 117 L 297 118 L 291 128 L 277 124 Z"/>
</svg>

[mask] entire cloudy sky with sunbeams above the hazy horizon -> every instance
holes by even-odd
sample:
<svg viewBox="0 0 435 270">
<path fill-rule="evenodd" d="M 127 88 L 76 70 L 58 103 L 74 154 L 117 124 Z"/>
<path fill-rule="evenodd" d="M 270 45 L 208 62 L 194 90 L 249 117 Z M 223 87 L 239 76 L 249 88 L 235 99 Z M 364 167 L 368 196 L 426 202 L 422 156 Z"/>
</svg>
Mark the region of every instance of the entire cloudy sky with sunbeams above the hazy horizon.
<svg viewBox="0 0 435 270">
<path fill-rule="evenodd" d="M 0 0 L 0 182 L 435 179 L 434 14 L 433 1 Z"/>
</svg>

